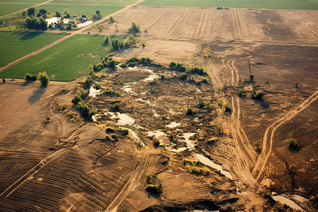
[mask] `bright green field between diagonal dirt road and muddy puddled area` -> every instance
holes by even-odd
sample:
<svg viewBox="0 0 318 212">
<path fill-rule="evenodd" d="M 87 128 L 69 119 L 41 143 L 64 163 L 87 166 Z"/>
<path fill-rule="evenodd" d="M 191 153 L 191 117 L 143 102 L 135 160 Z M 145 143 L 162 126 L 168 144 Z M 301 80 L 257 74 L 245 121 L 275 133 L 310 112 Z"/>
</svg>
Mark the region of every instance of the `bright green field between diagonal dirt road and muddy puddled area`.
<svg viewBox="0 0 318 212">
<path fill-rule="evenodd" d="M 83 75 L 90 64 L 112 52 L 110 44 L 102 46 L 105 35 L 74 35 L 63 42 L 0 72 L 0 77 L 23 78 L 25 73 L 47 71 L 50 80 L 72 81 Z M 111 40 L 114 37 L 111 37 Z M 116 37 L 124 40 L 124 37 Z M 111 43 L 111 42 L 110 42 Z"/>
</svg>

